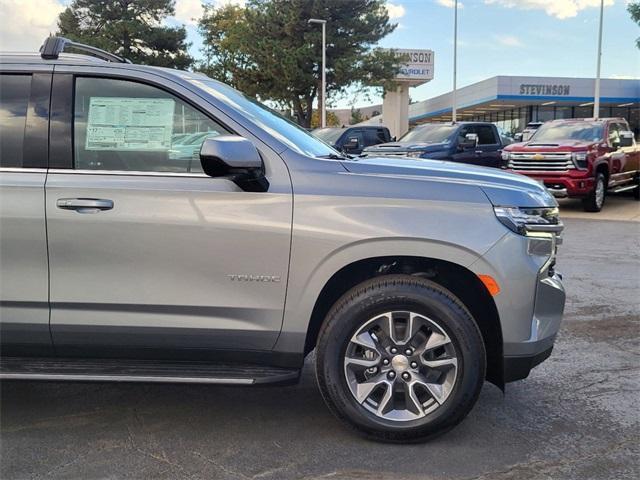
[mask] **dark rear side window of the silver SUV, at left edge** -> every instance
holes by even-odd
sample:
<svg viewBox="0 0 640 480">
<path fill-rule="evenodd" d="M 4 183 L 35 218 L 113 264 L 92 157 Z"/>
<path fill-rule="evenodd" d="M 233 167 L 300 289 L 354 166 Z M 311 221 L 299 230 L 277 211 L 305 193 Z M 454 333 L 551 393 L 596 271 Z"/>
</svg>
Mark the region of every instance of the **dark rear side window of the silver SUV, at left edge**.
<svg viewBox="0 0 640 480">
<path fill-rule="evenodd" d="M 31 75 L 0 75 L 0 167 L 22 167 Z"/>
</svg>

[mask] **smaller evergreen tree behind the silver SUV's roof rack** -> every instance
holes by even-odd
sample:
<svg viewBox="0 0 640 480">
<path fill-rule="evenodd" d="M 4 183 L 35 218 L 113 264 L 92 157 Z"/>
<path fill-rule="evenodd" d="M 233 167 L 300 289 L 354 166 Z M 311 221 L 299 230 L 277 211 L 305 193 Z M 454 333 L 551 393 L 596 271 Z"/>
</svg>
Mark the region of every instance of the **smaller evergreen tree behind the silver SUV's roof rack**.
<svg viewBox="0 0 640 480">
<path fill-rule="evenodd" d="M 193 63 L 186 29 L 162 25 L 174 13 L 173 0 L 73 0 L 57 34 L 134 63 L 186 69 Z"/>
</svg>

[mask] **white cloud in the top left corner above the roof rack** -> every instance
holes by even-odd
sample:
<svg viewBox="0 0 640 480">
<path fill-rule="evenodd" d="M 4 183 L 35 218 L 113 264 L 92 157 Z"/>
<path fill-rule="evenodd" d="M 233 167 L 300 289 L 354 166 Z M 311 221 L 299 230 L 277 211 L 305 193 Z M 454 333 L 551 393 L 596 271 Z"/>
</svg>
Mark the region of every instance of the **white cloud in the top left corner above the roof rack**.
<svg viewBox="0 0 640 480">
<path fill-rule="evenodd" d="M 64 5 L 56 0 L 0 0 L 0 49 L 37 52 L 50 33 L 58 29 Z"/>
</svg>

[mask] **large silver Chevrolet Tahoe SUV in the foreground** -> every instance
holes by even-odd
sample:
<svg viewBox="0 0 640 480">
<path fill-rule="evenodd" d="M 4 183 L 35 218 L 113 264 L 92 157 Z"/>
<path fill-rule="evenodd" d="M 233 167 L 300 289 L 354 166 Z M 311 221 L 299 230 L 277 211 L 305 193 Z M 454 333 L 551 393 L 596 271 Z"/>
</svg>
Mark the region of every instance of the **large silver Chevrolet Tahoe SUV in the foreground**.
<svg viewBox="0 0 640 480">
<path fill-rule="evenodd" d="M 540 184 L 347 158 L 202 74 L 69 43 L 0 57 L 1 378 L 288 383 L 315 350 L 333 413 L 399 442 L 551 353 Z"/>
</svg>

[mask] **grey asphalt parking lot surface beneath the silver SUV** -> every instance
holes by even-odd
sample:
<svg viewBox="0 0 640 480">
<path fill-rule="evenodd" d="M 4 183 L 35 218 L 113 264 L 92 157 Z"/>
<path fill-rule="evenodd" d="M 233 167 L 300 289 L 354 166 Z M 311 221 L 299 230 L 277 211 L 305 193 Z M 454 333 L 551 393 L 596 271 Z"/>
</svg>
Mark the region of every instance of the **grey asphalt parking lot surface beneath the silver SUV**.
<svg viewBox="0 0 640 480">
<path fill-rule="evenodd" d="M 485 385 L 439 439 L 386 445 L 348 432 L 312 360 L 291 387 L 15 382 L 0 392 L 0 476 L 640 478 L 640 204 L 562 208 L 568 304 L 556 349 L 506 394 Z"/>
</svg>

